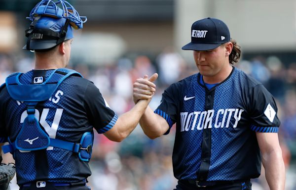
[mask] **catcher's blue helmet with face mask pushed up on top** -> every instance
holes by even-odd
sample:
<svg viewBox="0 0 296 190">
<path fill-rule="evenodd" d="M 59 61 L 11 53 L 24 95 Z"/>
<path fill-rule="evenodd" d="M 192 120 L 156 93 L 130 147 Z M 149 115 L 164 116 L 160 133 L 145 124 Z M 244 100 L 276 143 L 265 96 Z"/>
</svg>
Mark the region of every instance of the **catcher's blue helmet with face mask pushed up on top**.
<svg viewBox="0 0 296 190">
<path fill-rule="evenodd" d="M 23 49 L 46 50 L 73 38 L 73 30 L 81 29 L 87 21 L 79 16 L 66 0 L 41 0 L 27 19 L 32 23 L 26 30 L 27 44 Z M 82 20 L 84 19 L 84 20 Z"/>
</svg>

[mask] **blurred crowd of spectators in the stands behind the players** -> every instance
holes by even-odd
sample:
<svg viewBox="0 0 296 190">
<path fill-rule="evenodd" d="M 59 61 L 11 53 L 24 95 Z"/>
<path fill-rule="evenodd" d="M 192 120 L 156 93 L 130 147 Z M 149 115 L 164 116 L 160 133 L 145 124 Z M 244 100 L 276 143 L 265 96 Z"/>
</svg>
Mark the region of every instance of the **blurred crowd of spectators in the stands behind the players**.
<svg viewBox="0 0 296 190">
<path fill-rule="evenodd" d="M 258 56 L 242 59 L 236 66 L 260 81 L 277 101 L 280 143 L 287 168 L 286 190 L 296 190 L 296 63 L 283 63 L 276 56 Z M 133 83 L 138 77 L 151 76 L 154 72 L 159 74 L 156 94 L 150 102 L 150 107 L 155 109 L 165 88 L 198 72 L 193 62 L 186 62 L 172 47 L 154 57 L 126 55 L 108 64 L 86 65 L 71 60 L 69 67 L 94 82 L 117 115 L 134 105 Z M 1 83 L 13 72 L 33 68 L 33 53 L 0 53 Z M 93 190 L 172 190 L 177 184 L 172 169 L 174 138 L 174 126 L 169 135 L 156 140 L 148 139 L 140 126 L 120 143 L 96 134 L 89 186 Z M 17 186 L 12 184 L 11 189 L 17 190 Z M 268 189 L 264 177 L 253 181 L 253 189 Z"/>
</svg>

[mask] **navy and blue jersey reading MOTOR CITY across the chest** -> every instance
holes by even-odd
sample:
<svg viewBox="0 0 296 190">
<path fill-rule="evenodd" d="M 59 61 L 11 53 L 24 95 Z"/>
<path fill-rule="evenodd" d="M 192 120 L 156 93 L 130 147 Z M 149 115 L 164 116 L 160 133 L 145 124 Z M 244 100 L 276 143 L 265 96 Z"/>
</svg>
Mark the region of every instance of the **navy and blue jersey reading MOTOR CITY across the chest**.
<svg viewBox="0 0 296 190">
<path fill-rule="evenodd" d="M 199 181 L 259 177 L 256 132 L 278 132 L 274 98 L 262 84 L 235 67 L 210 90 L 200 77 L 195 74 L 172 84 L 154 111 L 170 128 L 176 123 L 175 177 Z"/>
</svg>

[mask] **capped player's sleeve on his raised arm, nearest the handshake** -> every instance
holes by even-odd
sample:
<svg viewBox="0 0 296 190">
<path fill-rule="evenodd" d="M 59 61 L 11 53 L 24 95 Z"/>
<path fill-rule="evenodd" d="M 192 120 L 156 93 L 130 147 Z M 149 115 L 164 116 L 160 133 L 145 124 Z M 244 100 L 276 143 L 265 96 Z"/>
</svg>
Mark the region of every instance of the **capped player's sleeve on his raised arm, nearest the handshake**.
<svg viewBox="0 0 296 190">
<path fill-rule="evenodd" d="M 154 113 L 163 117 L 169 124 L 169 130 L 164 135 L 169 134 L 173 124 L 176 123 L 179 96 L 176 84 L 171 85 L 162 94 L 160 105 L 154 111 Z"/>
</svg>

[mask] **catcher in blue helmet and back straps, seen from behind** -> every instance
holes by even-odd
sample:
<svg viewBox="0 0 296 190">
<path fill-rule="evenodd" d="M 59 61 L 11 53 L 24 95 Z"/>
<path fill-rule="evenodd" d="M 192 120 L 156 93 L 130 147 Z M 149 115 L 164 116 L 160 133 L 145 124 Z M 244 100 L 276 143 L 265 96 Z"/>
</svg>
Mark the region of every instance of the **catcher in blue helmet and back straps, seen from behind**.
<svg viewBox="0 0 296 190">
<path fill-rule="evenodd" d="M 73 29 L 82 29 L 86 17 L 66 0 L 41 0 L 28 19 L 24 49 L 34 51 L 35 68 L 11 74 L 0 87 L 0 142 L 9 142 L 3 152 L 15 159 L 20 190 L 90 190 L 93 129 L 123 141 L 154 94 L 157 74 L 148 99 L 118 117 L 92 82 L 65 68 Z"/>
</svg>

